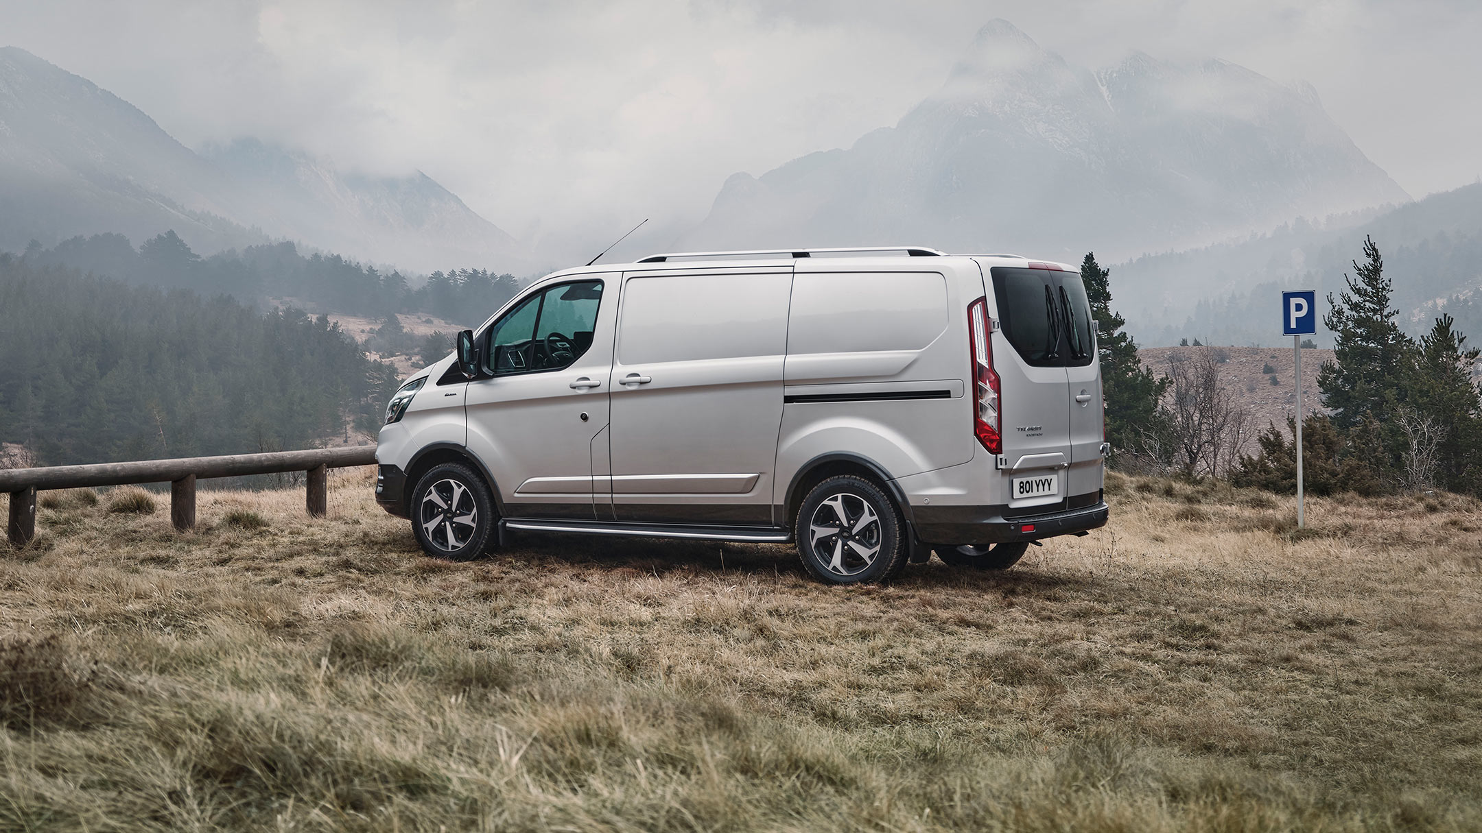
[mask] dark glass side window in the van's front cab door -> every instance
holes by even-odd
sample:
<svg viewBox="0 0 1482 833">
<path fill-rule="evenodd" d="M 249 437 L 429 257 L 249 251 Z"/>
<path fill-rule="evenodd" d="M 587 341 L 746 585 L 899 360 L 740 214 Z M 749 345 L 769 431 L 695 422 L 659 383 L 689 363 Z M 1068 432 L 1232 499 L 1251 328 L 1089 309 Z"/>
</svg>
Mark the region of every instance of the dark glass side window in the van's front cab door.
<svg viewBox="0 0 1482 833">
<path fill-rule="evenodd" d="M 526 298 L 491 328 L 495 375 L 560 371 L 591 347 L 602 282 L 562 283 Z"/>
</svg>

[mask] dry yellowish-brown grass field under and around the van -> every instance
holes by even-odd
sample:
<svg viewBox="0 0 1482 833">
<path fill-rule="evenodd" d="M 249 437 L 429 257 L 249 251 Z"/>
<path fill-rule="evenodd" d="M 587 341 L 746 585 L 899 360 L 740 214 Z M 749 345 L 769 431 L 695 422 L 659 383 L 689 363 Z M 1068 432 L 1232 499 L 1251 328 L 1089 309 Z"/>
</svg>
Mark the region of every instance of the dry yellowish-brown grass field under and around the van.
<svg viewBox="0 0 1482 833">
<path fill-rule="evenodd" d="M 0 829 L 1482 829 L 1482 505 L 1112 492 L 1005 574 L 845 590 L 782 547 L 430 560 L 357 473 L 190 535 L 43 494 Z"/>
</svg>

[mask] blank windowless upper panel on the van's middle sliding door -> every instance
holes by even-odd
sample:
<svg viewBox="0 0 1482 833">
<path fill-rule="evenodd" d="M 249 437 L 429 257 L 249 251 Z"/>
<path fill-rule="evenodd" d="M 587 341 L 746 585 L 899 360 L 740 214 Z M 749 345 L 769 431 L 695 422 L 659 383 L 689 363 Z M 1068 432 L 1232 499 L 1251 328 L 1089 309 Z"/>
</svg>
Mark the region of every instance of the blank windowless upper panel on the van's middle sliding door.
<svg viewBox="0 0 1482 833">
<path fill-rule="evenodd" d="M 628 279 L 618 362 L 648 365 L 781 356 L 793 276 L 685 274 Z"/>
</svg>

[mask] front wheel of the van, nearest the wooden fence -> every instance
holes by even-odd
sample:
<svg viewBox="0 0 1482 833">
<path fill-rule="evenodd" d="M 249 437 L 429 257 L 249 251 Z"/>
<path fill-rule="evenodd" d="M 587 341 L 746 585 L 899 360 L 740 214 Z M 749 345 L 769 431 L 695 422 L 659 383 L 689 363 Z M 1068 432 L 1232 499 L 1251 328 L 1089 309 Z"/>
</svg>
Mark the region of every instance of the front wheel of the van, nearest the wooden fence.
<svg viewBox="0 0 1482 833">
<path fill-rule="evenodd" d="M 455 562 L 485 554 L 499 522 L 489 485 L 462 462 L 443 462 L 422 474 L 409 508 L 422 551 Z"/>
</svg>

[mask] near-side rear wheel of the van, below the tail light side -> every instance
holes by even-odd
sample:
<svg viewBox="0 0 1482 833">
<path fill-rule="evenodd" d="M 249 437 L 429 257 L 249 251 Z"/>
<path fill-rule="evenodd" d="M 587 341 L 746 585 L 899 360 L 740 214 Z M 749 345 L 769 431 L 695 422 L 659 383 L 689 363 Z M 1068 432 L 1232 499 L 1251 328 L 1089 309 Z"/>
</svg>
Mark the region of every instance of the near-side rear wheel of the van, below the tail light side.
<svg viewBox="0 0 1482 833">
<path fill-rule="evenodd" d="M 809 489 L 793 529 L 803 566 L 820 581 L 889 581 L 906 568 L 901 513 L 864 477 L 839 474 Z"/>
</svg>

